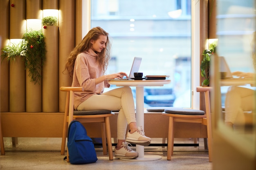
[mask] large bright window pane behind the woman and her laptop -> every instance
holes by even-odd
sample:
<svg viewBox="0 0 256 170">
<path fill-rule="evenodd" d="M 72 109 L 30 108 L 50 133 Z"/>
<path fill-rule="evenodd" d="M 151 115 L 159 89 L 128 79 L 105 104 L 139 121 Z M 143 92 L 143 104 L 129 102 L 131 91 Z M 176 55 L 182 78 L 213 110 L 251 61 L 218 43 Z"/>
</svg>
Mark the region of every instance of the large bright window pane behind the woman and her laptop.
<svg viewBox="0 0 256 170">
<path fill-rule="evenodd" d="M 191 107 L 191 0 L 91 0 L 95 26 L 112 38 L 108 73 L 129 73 L 142 57 L 144 76 L 170 75 L 171 84 L 144 88 L 145 107 Z"/>
</svg>

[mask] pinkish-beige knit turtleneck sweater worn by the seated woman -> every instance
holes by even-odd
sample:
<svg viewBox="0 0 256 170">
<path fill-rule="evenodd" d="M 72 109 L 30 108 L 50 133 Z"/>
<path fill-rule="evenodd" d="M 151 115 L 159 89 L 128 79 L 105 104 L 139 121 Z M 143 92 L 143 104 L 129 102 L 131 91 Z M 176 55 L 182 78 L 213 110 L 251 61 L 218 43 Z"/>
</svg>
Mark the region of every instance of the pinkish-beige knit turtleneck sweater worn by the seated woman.
<svg viewBox="0 0 256 170">
<path fill-rule="evenodd" d="M 110 87 L 106 81 L 95 84 L 95 79 L 103 75 L 102 68 L 96 60 L 97 54 L 89 49 L 76 57 L 72 87 L 83 87 L 83 92 L 74 94 L 74 109 L 92 95 L 103 93 L 104 87 Z"/>
</svg>

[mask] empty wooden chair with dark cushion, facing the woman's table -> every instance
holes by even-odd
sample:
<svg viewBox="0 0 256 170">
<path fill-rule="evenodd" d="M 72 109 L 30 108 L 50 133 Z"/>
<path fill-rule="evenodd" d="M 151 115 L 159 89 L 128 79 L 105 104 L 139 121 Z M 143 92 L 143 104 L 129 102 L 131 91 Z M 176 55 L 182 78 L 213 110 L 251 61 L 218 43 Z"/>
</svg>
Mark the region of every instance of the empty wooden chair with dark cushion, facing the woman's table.
<svg viewBox="0 0 256 170">
<path fill-rule="evenodd" d="M 174 128 L 173 123 L 191 122 L 200 123 L 207 126 L 208 152 L 209 162 L 212 162 L 212 130 L 211 130 L 211 109 L 210 109 L 210 87 L 197 87 L 197 92 L 204 92 L 205 112 L 203 110 L 185 109 L 185 108 L 168 108 L 164 110 L 162 115 L 169 117 L 168 128 L 168 144 L 167 144 L 167 160 L 171 160 L 173 155 Z"/>
</svg>

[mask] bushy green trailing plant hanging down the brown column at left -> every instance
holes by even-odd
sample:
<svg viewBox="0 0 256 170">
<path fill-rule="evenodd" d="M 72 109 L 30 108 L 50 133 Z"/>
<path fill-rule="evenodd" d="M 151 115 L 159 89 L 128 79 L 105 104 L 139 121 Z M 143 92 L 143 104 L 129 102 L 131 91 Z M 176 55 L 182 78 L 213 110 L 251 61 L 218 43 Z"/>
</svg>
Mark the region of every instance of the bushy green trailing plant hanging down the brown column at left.
<svg viewBox="0 0 256 170">
<path fill-rule="evenodd" d="M 42 30 L 27 31 L 22 39 L 25 40 L 25 68 L 28 69 L 30 81 L 34 84 L 40 84 L 42 78 L 42 66 L 45 62 L 45 36 Z"/>
</svg>

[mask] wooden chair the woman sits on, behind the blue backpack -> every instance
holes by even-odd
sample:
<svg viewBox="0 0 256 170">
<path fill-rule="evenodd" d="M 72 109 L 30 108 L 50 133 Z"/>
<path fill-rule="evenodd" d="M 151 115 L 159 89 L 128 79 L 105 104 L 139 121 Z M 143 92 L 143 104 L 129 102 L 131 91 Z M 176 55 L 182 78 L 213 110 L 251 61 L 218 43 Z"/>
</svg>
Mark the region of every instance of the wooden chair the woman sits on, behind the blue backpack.
<svg viewBox="0 0 256 170">
<path fill-rule="evenodd" d="M 81 123 L 89 122 L 101 122 L 101 137 L 103 146 L 103 155 L 107 155 L 107 144 L 108 142 L 108 156 L 109 160 L 113 160 L 113 150 L 110 133 L 110 121 L 109 117 L 114 116 L 110 110 L 90 110 L 90 111 L 74 111 L 74 92 L 82 92 L 82 87 L 61 87 L 61 91 L 66 91 L 66 104 L 65 104 L 65 115 L 63 124 L 63 135 L 61 144 L 61 155 L 65 153 L 67 129 L 71 121 L 77 120 Z M 67 123 L 68 122 L 68 123 Z M 107 141 L 106 141 L 107 139 Z M 67 150 L 67 162 L 69 162 L 69 153 Z"/>
</svg>

